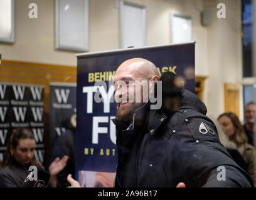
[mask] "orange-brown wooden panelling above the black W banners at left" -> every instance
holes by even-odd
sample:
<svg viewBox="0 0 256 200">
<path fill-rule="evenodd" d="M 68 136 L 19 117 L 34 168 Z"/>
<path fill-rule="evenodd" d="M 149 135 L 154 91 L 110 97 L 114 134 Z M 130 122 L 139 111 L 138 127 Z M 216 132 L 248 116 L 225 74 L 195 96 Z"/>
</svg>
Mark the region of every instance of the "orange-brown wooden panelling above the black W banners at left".
<svg viewBox="0 0 256 200">
<path fill-rule="evenodd" d="M 44 109 L 49 113 L 50 82 L 77 83 L 77 67 L 3 60 L 0 82 L 45 86 Z"/>
</svg>

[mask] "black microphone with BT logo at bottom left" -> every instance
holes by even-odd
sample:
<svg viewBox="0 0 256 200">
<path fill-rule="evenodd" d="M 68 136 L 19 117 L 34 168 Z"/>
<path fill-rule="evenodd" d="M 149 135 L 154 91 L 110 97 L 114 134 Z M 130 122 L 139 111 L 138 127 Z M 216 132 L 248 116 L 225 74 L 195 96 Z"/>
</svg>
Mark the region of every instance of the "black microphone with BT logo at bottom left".
<svg viewBox="0 0 256 200">
<path fill-rule="evenodd" d="M 28 174 L 22 187 L 46 187 L 50 180 L 50 174 L 45 169 L 36 166 L 30 166 L 29 171 L 31 167 L 33 167 L 33 171 Z"/>
</svg>

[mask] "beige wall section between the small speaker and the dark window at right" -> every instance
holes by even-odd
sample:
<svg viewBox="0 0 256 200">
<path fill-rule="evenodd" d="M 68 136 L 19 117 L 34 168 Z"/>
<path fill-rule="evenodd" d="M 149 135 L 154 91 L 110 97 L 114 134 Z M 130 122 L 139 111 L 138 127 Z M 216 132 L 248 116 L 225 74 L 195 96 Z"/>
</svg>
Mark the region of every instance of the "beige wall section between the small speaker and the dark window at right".
<svg viewBox="0 0 256 200">
<path fill-rule="evenodd" d="M 224 111 L 224 83 L 242 81 L 242 24 L 241 5 L 237 0 L 206 0 L 205 9 L 216 11 L 216 4 L 223 2 L 227 8 L 227 18 L 212 17 L 207 28 L 208 80 L 206 81 L 206 106 L 208 113 L 218 117 Z M 242 88 L 240 97 L 240 119 L 242 113 Z"/>
</svg>

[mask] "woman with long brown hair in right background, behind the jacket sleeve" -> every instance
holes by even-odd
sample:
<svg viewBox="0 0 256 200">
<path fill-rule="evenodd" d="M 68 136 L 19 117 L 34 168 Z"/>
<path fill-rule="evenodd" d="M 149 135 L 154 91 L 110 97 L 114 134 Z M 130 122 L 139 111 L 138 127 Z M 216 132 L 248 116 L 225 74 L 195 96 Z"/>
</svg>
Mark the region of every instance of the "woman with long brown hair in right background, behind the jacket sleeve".
<svg viewBox="0 0 256 200">
<path fill-rule="evenodd" d="M 234 147 L 245 160 L 253 184 L 256 186 L 256 150 L 247 143 L 247 136 L 238 117 L 234 113 L 223 113 L 218 117 L 218 122 L 229 141 L 235 144 Z"/>
</svg>

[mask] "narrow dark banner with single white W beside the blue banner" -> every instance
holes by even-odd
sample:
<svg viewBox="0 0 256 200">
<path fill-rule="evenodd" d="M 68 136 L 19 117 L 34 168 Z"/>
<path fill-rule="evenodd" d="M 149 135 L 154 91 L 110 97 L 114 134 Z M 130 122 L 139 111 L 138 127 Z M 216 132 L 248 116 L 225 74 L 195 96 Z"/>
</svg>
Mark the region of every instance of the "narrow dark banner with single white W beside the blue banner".
<svg viewBox="0 0 256 200">
<path fill-rule="evenodd" d="M 50 146 L 65 133 L 76 112 L 77 84 L 50 83 Z"/>
</svg>

